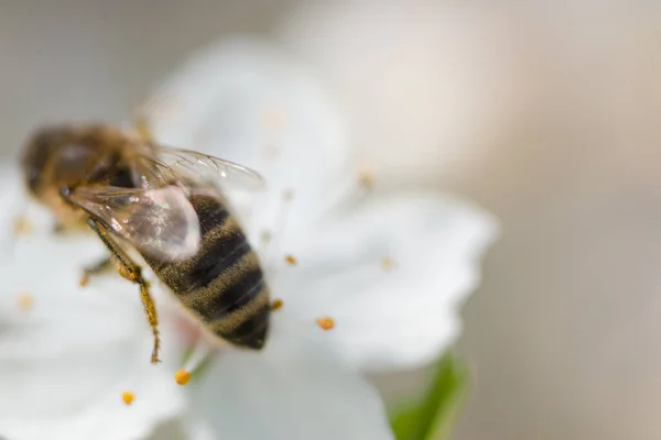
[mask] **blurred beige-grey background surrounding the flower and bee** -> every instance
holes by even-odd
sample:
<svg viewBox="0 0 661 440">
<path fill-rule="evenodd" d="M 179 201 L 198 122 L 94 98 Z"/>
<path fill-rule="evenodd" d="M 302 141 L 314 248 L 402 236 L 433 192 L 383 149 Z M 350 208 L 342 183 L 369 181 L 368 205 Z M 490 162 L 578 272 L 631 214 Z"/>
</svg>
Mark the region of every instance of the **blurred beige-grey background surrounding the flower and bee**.
<svg viewBox="0 0 661 440">
<path fill-rule="evenodd" d="M 44 121 L 124 121 L 237 33 L 308 64 L 379 185 L 500 218 L 454 439 L 661 438 L 661 4 L 2 0 L 2 161 Z"/>
</svg>

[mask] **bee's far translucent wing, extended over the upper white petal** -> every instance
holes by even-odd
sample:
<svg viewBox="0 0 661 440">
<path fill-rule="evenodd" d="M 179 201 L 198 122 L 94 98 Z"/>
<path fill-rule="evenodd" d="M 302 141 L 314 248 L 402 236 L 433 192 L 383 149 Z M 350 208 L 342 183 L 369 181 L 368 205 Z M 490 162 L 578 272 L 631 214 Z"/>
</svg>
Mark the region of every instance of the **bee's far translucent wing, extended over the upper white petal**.
<svg viewBox="0 0 661 440">
<path fill-rule="evenodd" d="M 162 180 L 184 176 L 194 182 L 218 183 L 221 187 L 260 190 L 266 187 L 263 177 L 256 170 L 215 157 L 208 154 L 189 150 L 158 146 L 153 162 Z"/>
</svg>

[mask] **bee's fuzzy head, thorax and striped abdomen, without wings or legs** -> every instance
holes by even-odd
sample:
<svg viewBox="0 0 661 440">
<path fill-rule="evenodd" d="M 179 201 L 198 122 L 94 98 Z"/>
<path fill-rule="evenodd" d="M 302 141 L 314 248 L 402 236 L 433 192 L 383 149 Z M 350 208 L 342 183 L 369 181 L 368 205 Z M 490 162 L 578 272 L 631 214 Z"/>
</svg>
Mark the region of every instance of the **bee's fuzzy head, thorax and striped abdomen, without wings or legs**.
<svg viewBox="0 0 661 440">
<path fill-rule="evenodd" d="M 90 219 L 100 221 L 63 200 L 62 190 L 73 194 L 82 187 L 140 188 L 133 166 L 137 142 L 106 125 L 41 130 L 23 154 L 25 186 L 52 209 L 63 227 L 85 224 Z M 150 143 L 144 141 L 140 146 L 149 150 Z M 152 147 L 155 150 L 156 145 Z M 270 305 L 258 256 L 215 187 L 187 184 L 188 201 L 199 221 L 197 252 L 174 261 L 138 252 L 208 330 L 236 345 L 261 349 L 268 333 Z"/>
</svg>

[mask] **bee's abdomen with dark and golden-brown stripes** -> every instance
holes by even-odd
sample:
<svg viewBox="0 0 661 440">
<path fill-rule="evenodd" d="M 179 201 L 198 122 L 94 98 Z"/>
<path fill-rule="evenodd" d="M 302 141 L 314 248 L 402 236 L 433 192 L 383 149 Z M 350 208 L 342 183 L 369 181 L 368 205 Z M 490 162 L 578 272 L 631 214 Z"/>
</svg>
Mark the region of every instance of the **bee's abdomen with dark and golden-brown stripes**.
<svg viewBox="0 0 661 440">
<path fill-rule="evenodd" d="M 202 234 L 197 255 L 181 262 L 144 256 L 183 305 L 223 339 L 261 349 L 269 327 L 269 288 L 257 254 L 217 199 L 194 195 Z"/>
</svg>

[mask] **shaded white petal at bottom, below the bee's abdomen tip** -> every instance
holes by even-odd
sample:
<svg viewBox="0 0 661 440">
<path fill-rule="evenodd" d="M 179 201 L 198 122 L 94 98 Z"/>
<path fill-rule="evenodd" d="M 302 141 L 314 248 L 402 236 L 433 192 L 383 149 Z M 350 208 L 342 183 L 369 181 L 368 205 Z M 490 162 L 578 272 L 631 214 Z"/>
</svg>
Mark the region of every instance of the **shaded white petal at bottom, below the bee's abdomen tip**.
<svg viewBox="0 0 661 440">
<path fill-rule="evenodd" d="M 206 372 L 193 397 L 195 438 L 392 438 L 378 393 L 322 341 L 278 323 L 262 352 L 220 353 Z"/>
</svg>

